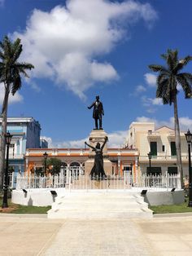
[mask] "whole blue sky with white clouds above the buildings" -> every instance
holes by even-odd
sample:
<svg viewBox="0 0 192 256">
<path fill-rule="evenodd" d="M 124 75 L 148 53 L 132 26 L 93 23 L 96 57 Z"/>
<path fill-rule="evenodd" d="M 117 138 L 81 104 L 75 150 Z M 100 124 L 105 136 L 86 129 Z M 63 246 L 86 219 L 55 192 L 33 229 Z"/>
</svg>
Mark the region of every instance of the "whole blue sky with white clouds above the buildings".
<svg viewBox="0 0 192 256">
<path fill-rule="evenodd" d="M 55 147 L 84 147 L 94 128 L 96 95 L 111 146 L 122 145 L 132 121 L 172 126 L 173 108 L 155 99 L 160 54 L 192 55 L 190 0 L 0 0 L 0 38 L 21 38 L 20 60 L 35 69 L 10 98 L 10 117 L 34 117 Z M 186 68 L 191 72 L 192 63 Z M 0 104 L 3 87 L 0 86 Z M 181 130 L 192 128 L 191 100 L 178 95 Z"/>
</svg>

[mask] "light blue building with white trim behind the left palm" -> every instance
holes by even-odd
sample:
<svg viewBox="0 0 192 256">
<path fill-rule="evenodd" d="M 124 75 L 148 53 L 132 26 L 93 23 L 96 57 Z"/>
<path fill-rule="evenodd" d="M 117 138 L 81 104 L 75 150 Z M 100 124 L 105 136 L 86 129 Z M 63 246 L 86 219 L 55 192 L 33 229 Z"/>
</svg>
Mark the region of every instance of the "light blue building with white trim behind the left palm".
<svg viewBox="0 0 192 256">
<path fill-rule="evenodd" d="M 2 118 L 0 118 L 1 131 Z M 7 131 L 13 135 L 9 151 L 9 166 L 16 176 L 19 170 L 24 172 L 26 148 L 40 148 L 41 126 L 33 117 L 8 117 Z"/>
</svg>

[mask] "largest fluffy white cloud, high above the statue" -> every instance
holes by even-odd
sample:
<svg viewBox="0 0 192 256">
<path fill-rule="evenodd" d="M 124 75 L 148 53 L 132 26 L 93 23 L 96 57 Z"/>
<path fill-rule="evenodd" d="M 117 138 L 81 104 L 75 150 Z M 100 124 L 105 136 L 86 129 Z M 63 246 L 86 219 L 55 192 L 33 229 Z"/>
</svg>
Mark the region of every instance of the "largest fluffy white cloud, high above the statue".
<svg viewBox="0 0 192 256">
<path fill-rule="evenodd" d="M 149 26 L 157 18 L 149 3 L 135 1 L 68 0 L 50 12 L 35 9 L 23 33 L 23 58 L 34 64 L 32 77 L 46 77 L 84 98 L 95 82 L 117 79 L 116 69 L 96 58 L 106 55 L 129 24 L 144 20 Z"/>
</svg>

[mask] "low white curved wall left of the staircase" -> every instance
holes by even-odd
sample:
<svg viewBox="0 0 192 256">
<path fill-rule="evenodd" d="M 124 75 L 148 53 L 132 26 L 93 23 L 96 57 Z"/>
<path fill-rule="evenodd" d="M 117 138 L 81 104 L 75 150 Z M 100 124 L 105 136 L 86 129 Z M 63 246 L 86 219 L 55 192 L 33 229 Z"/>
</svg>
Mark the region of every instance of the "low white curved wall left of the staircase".
<svg viewBox="0 0 192 256">
<path fill-rule="evenodd" d="M 56 195 L 52 195 L 50 191 L 55 191 L 57 195 L 63 194 L 65 188 L 35 188 L 13 190 L 11 193 L 11 201 L 19 205 L 48 206 L 55 202 Z"/>
</svg>

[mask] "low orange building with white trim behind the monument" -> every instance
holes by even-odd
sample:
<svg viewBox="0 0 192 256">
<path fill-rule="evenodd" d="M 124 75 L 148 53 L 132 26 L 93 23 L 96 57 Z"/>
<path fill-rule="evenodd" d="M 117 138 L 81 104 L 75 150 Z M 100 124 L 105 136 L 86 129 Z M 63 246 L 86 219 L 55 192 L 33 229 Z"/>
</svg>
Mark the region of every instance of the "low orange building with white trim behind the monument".
<svg viewBox="0 0 192 256">
<path fill-rule="evenodd" d="M 85 162 L 93 159 L 89 148 L 28 148 L 25 155 L 25 170 L 29 174 L 35 168 L 43 167 L 44 153 L 62 161 L 62 169 L 78 170 L 81 174 L 85 172 Z M 111 161 L 111 170 L 106 174 L 123 175 L 124 170 L 133 174 L 133 181 L 137 178 L 137 150 L 129 148 L 107 148 L 107 159 Z M 104 163 L 105 168 L 105 163 Z M 90 172 L 90 170 L 89 170 Z"/>
</svg>

